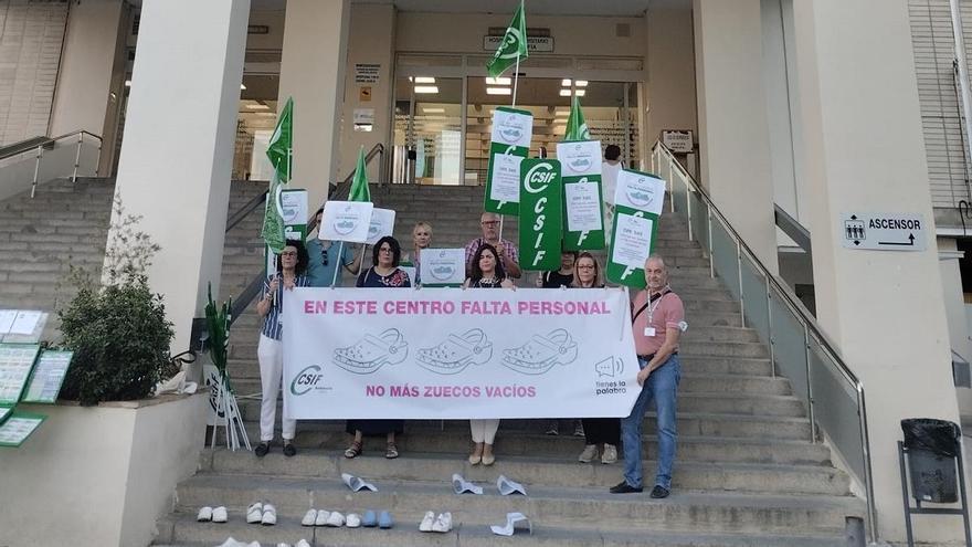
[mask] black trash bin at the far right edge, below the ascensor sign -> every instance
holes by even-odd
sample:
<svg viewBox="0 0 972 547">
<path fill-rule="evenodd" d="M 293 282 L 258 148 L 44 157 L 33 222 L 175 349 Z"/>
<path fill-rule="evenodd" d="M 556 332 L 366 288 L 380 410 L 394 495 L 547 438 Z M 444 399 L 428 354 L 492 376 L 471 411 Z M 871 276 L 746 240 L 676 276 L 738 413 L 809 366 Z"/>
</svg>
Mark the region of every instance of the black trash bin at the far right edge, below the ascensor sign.
<svg viewBox="0 0 972 547">
<path fill-rule="evenodd" d="M 901 420 L 901 430 L 908 449 L 911 496 L 919 503 L 958 502 L 955 456 L 961 438 L 959 427 L 945 420 L 912 418 Z"/>
</svg>

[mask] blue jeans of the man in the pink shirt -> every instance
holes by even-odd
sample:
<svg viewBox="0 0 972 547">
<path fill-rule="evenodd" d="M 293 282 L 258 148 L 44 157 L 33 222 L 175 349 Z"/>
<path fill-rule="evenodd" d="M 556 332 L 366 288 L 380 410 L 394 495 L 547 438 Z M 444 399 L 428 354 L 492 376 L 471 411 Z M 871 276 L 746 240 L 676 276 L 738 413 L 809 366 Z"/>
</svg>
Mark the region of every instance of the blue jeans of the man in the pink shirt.
<svg viewBox="0 0 972 547">
<path fill-rule="evenodd" d="M 638 368 L 647 361 L 638 358 Z M 664 365 L 656 368 L 638 393 L 631 415 L 621 420 L 621 439 L 624 442 L 624 481 L 636 488 L 642 487 L 642 424 L 645 408 L 655 401 L 658 415 L 658 470 L 655 484 L 672 490 L 672 466 L 675 464 L 675 404 L 678 382 L 682 380 L 682 366 L 678 356 L 673 355 Z"/>
</svg>

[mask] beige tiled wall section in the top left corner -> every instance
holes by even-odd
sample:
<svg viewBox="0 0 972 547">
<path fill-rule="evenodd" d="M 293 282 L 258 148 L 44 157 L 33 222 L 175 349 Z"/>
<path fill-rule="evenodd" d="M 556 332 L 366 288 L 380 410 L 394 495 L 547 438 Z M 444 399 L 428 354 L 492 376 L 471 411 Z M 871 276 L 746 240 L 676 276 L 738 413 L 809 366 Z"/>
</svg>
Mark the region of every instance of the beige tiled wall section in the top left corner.
<svg viewBox="0 0 972 547">
<path fill-rule="evenodd" d="M 0 0 L 0 145 L 47 135 L 67 4 Z"/>
</svg>

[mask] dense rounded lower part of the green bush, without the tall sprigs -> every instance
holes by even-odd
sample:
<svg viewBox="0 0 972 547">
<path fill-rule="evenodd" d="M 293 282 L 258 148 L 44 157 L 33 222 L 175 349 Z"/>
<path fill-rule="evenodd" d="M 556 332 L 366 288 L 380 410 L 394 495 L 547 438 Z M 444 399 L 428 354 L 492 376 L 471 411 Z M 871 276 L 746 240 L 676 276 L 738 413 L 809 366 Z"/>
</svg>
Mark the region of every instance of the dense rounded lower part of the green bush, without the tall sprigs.
<svg viewBox="0 0 972 547">
<path fill-rule="evenodd" d="M 64 345 L 74 350 L 62 398 L 97 404 L 151 395 L 173 333 L 145 275 L 102 291 L 82 287 L 59 316 Z"/>
</svg>

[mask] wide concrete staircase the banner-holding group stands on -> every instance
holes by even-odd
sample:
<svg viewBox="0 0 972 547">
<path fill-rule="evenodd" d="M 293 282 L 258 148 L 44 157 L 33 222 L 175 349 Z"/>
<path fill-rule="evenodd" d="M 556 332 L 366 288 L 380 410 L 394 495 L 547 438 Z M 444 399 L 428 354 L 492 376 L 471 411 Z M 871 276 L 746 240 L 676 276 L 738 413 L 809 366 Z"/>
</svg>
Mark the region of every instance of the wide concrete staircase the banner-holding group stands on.
<svg viewBox="0 0 972 547">
<path fill-rule="evenodd" d="M 234 185 L 242 203 L 262 185 Z M 458 246 L 478 235 L 482 188 L 392 186 L 374 188 L 376 204 L 398 211 L 397 235 L 411 246 L 419 220 L 433 225 L 435 246 Z M 234 208 L 231 206 L 231 211 Z M 509 219 L 507 219 L 509 220 Z M 239 294 L 260 271 L 260 214 L 226 238 L 222 294 Z M 862 516 L 864 503 L 849 494 L 848 477 L 831 463 L 830 450 L 810 442 L 811 425 L 790 382 L 773 375 L 767 348 L 739 326 L 739 304 L 707 259 L 687 241 L 684 224 L 663 217 L 658 252 L 672 267 L 672 283 L 686 302 L 687 319 L 679 391 L 678 456 L 674 492 L 667 499 L 647 494 L 612 495 L 621 463 L 580 464 L 583 440 L 547 436 L 539 420 L 504 420 L 493 467 L 469 466 L 465 421 L 408 421 L 398 460 L 383 457 L 384 440 L 368 439 L 364 454 L 346 460 L 344 422 L 302 421 L 299 453 L 284 457 L 279 446 L 257 460 L 249 452 L 203 450 L 199 472 L 177 488 L 171 515 L 158 524 L 157 545 L 218 545 L 228 536 L 263 545 L 306 538 L 315 545 L 485 546 L 516 541 L 529 546 L 832 546 L 845 545 L 845 517 Z M 515 223 L 505 234 L 516 241 Z M 521 283 L 524 284 L 524 283 Z M 234 325 L 230 365 L 251 439 L 257 439 L 260 374 L 258 320 L 251 306 Z M 561 431 L 572 428 L 561 427 Z M 656 453 L 653 413 L 645 417 L 644 455 Z M 278 436 L 278 435 L 277 435 Z M 651 476 L 654 462 L 646 462 Z M 374 482 L 378 493 L 351 493 L 339 480 L 349 472 Z M 482 496 L 452 493 L 450 476 L 462 473 L 486 487 Z M 526 484 L 527 497 L 501 497 L 495 480 L 505 474 Z M 278 524 L 246 525 L 245 507 L 274 503 Z M 203 505 L 226 505 L 228 524 L 200 524 Z M 340 511 L 388 509 L 395 528 L 304 528 L 309 507 Z M 425 511 L 451 511 L 455 530 L 421 534 Z M 520 511 L 533 522 L 532 536 L 506 539 L 487 524 Z"/>
</svg>

